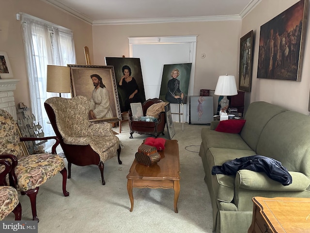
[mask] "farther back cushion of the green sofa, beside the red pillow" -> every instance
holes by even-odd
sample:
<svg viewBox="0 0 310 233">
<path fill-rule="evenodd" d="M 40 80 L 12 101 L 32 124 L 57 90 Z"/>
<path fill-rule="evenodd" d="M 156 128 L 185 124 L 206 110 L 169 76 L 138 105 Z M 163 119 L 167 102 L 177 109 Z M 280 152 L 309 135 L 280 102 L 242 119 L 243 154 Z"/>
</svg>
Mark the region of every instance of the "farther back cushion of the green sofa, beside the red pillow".
<svg viewBox="0 0 310 233">
<path fill-rule="evenodd" d="M 285 108 L 264 101 L 252 102 L 244 116 L 247 121 L 240 132 L 242 139 L 252 150 L 256 151 L 258 140 L 265 125 L 273 116 L 285 111 L 287 111 Z"/>
</svg>

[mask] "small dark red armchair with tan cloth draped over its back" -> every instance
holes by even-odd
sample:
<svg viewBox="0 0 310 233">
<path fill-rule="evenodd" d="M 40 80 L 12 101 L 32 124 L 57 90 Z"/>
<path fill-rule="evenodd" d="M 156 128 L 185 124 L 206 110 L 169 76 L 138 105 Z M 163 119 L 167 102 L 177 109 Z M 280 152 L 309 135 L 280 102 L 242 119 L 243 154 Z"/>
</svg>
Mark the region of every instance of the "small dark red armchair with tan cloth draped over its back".
<svg viewBox="0 0 310 233">
<path fill-rule="evenodd" d="M 147 116 L 148 109 L 152 106 L 154 107 L 155 111 L 151 111 L 152 115 L 156 116 L 157 121 L 152 122 L 152 121 L 141 121 L 141 120 L 134 120 L 132 116 L 132 111 L 129 110 L 129 127 L 130 127 L 130 137 L 133 138 L 132 134 L 133 133 L 139 133 L 139 134 L 149 134 L 153 135 L 155 138 L 157 138 L 160 133 L 164 135 L 165 131 L 165 126 L 166 126 L 166 114 L 165 114 L 165 105 L 167 103 L 164 102 L 163 100 L 159 100 L 158 98 L 154 99 L 149 99 L 144 101 L 142 103 L 142 111 L 143 111 L 143 116 Z M 155 106 L 156 105 L 156 106 Z M 157 113 L 156 110 L 159 110 Z M 154 115 L 155 113 L 155 115 Z"/>
</svg>

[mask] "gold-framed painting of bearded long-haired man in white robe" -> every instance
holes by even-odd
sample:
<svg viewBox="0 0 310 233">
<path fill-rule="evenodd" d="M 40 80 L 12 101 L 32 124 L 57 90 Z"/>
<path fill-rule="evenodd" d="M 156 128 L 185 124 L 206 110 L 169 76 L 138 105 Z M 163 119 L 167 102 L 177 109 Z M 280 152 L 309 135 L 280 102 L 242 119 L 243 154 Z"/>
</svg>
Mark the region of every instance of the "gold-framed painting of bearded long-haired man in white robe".
<svg viewBox="0 0 310 233">
<path fill-rule="evenodd" d="M 68 65 L 71 72 L 71 95 L 85 96 L 95 118 L 91 121 L 121 119 L 114 69 L 112 66 Z"/>
</svg>

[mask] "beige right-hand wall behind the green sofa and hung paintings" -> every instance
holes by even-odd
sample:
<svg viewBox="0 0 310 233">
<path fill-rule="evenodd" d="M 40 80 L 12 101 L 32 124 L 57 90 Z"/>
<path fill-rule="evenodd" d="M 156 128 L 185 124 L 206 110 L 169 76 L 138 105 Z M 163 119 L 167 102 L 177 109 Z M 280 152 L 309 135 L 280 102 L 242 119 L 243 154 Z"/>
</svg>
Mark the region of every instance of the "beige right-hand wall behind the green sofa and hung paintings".
<svg viewBox="0 0 310 233">
<path fill-rule="evenodd" d="M 310 87 L 310 28 L 307 27 L 306 47 L 301 82 L 257 79 L 260 27 L 273 17 L 278 16 L 298 0 L 262 0 L 248 16 L 242 20 L 241 35 L 253 30 L 256 34 L 253 57 L 252 91 L 247 93 L 246 102 L 263 100 L 284 106 L 306 115 L 308 112 Z M 308 9 L 309 12 L 309 9 Z"/>
</svg>

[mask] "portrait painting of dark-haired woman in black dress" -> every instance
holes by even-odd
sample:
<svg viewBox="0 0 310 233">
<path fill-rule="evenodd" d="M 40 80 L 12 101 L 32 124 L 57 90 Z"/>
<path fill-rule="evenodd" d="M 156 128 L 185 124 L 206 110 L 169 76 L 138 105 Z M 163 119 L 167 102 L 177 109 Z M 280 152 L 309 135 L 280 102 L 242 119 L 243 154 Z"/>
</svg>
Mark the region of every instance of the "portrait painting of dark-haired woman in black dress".
<svg viewBox="0 0 310 233">
<path fill-rule="evenodd" d="M 140 58 L 105 57 L 105 60 L 107 66 L 114 67 L 121 111 L 127 112 L 130 103 L 143 103 L 145 92 Z"/>
</svg>

